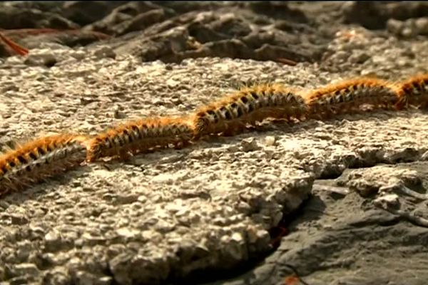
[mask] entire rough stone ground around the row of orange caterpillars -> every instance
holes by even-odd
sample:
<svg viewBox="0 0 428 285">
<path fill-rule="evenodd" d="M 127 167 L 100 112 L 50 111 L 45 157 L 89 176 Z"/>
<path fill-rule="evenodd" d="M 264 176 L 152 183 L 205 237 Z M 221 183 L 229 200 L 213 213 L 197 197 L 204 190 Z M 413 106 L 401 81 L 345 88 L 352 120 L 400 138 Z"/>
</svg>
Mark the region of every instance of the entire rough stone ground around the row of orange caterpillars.
<svg viewBox="0 0 428 285">
<path fill-rule="evenodd" d="M 0 145 L 248 83 L 427 73 L 426 2 L 4 1 Z M 265 122 L 0 199 L 1 284 L 426 284 L 425 110 Z M 294 281 L 293 281 L 294 280 Z"/>
</svg>

